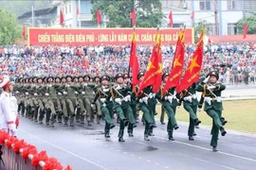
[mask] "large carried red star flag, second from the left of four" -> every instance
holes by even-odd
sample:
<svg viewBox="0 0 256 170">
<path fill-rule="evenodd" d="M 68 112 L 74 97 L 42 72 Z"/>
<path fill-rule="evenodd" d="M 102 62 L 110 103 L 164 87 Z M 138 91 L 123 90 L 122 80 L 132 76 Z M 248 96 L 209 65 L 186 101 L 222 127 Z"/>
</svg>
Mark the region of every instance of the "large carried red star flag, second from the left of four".
<svg viewBox="0 0 256 170">
<path fill-rule="evenodd" d="M 161 34 L 155 34 L 155 44 L 152 51 L 152 56 L 148 63 L 147 71 L 139 86 L 137 94 L 147 86 L 153 85 L 153 92 L 157 93 L 161 86 L 162 76 L 162 57 L 161 57 Z"/>
</svg>

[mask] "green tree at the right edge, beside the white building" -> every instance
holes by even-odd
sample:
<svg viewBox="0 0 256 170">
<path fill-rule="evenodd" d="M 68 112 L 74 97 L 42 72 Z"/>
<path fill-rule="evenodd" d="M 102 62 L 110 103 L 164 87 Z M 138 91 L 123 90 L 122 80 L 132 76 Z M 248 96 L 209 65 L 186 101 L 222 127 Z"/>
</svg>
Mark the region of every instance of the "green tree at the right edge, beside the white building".
<svg viewBox="0 0 256 170">
<path fill-rule="evenodd" d="M 239 34 L 244 33 L 244 24 L 247 23 L 247 34 L 256 34 L 256 12 L 255 11 L 247 11 L 252 15 L 239 20 L 236 24 L 237 30 Z"/>
</svg>

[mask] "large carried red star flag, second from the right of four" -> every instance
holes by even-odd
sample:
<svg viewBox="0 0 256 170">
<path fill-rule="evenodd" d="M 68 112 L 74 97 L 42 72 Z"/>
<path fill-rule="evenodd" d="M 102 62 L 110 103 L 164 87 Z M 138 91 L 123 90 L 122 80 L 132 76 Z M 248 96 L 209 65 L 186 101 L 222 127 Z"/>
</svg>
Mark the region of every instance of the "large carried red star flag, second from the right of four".
<svg viewBox="0 0 256 170">
<path fill-rule="evenodd" d="M 172 87 L 176 87 L 179 84 L 180 77 L 182 76 L 183 66 L 184 66 L 184 53 L 185 53 L 185 31 L 183 30 L 179 36 L 176 43 L 176 50 L 174 53 L 173 59 L 173 68 L 168 77 L 168 80 L 163 89 L 163 93 L 165 93 L 168 89 Z"/>
</svg>

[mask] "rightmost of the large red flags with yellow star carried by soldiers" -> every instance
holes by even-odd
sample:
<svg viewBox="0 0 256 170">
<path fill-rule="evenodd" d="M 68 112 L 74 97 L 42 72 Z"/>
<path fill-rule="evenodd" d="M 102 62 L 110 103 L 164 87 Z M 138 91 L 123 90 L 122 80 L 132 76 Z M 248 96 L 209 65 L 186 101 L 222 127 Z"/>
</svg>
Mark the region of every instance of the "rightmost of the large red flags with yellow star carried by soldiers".
<svg viewBox="0 0 256 170">
<path fill-rule="evenodd" d="M 193 53 L 192 60 L 190 61 L 187 70 L 185 71 L 183 79 L 176 88 L 177 93 L 180 93 L 184 89 L 189 88 L 192 83 L 199 80 L 204 53 L 204 35 L 205 30 L 203 29 L 200 39 L 197 42 L 196 49 Z"/>
</svg>

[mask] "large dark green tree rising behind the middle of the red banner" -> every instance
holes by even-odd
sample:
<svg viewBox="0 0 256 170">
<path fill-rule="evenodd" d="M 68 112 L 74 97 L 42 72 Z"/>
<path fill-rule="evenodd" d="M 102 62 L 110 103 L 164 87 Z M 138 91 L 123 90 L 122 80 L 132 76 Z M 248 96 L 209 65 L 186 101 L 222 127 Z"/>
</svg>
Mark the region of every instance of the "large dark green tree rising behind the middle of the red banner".
<svg viewBox="0 0 256 170">
<path fill-rule="evenodd" d="M 156 27 L 161 25 L 164 17 L 160 0 L 91 0 L 93 8 L 93 21 L 96 23 L 96 10 L 105 15 L 107 27 L 130 27 L 130 13 L 135 8 L 137 11 L 137 27 Z"/>
</svg>

